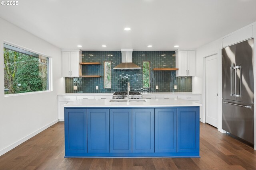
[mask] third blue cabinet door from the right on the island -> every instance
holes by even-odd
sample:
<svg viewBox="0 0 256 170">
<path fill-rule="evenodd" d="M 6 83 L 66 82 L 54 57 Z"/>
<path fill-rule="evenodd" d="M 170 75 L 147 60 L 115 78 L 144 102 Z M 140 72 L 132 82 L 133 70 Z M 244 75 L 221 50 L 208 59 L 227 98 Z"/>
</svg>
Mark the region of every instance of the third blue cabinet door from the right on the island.
<svg viewBox="0 0 256 170">
<path fill-rule="evenodd" d="M 154 109 L 132 109 L 132 152 L 154 152 Z"/>
</svg>

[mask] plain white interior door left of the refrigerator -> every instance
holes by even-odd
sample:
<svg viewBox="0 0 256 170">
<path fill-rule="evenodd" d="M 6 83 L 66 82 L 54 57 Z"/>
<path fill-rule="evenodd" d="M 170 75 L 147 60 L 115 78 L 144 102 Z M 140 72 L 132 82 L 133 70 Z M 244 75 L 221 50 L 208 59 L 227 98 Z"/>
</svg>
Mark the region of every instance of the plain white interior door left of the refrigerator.
<svg viewBox="0 0 256 170">
<path fill-rule="evenodd" d="M 218 122 L 217 65 L 217 55 L 205 58 L 205 121 L 214 127 Z"/>
</svg>

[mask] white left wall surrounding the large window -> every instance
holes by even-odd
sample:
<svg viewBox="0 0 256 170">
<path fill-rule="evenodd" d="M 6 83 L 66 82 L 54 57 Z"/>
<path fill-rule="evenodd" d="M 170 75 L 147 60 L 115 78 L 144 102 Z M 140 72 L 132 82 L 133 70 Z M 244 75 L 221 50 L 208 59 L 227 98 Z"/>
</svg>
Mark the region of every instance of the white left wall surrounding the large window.
<svg viewBox="0 0 256 170">
<path fill-rule="evenodd" d="M 4 96 L 4 41 L 25 47 L 52 60 L 52 91 Z M 65 92 L 61 50 L 0 18 L 0 155 L 58 121 L 57 94 Z"/>
</svg>

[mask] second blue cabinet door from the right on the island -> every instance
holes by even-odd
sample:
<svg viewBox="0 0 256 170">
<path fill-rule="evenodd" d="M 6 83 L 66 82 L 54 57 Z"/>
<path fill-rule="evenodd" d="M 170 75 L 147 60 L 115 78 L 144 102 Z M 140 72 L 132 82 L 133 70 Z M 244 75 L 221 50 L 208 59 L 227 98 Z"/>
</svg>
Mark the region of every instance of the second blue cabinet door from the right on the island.
<svg viewBox="0 0 256 170">
<path fill-rule="evenodd" d="M 177 109 L 155 109 L 155 152 L 177 152 Z"/>
</svg>

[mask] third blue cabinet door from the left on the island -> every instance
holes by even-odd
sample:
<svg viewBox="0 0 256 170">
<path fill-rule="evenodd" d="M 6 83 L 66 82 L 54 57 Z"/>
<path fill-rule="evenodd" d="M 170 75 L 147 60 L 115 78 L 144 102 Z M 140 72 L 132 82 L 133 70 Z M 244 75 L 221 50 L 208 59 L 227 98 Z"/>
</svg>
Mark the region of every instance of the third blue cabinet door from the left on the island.
<svg viewBox="0 0 256 170">
<path fill-rule="evenodd" d="M 110 109 L 110 153 L 132 152 L 132 109 Z"/>
</svg>

